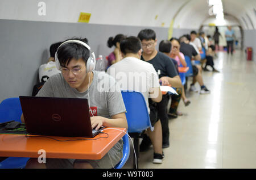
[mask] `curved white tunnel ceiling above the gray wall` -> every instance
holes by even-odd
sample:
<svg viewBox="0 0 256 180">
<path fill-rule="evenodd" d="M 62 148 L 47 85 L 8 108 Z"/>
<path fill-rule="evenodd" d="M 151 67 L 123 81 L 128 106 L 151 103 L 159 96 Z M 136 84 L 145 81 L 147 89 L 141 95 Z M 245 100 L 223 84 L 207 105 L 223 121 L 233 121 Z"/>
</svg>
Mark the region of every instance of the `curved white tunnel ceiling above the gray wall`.
<svg viewBox="0 0 256 180">
<path fill-rule="evenodd" d="M 93 24 L 170 27 L 173 22 L 174 28 L 188 29 L 199 29 L 214 19 L 209 15 L 208 0 L 42 0 L 45 16 L 38 15 L 39 2 L 0 0 L 0 19 L 76 23 L 80 12 L 89 12 Z M 255 0 L 222 0 L 222 4 L 224 14 L 236 19 L 233 23 L 245 30 L 256 28 Z"/>
</svg>

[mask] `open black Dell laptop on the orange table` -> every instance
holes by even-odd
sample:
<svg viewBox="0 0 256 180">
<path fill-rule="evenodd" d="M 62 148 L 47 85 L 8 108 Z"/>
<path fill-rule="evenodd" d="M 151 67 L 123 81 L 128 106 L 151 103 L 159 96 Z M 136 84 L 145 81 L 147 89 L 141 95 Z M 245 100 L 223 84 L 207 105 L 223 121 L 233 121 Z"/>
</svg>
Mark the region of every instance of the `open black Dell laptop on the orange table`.
<svg viewBox="0 0 256 180">
<path fill-rule="evenodd" d="M 27 133 L 30 135 L 94 137 L 87 99 L 20 96 Z"/>
</svg>

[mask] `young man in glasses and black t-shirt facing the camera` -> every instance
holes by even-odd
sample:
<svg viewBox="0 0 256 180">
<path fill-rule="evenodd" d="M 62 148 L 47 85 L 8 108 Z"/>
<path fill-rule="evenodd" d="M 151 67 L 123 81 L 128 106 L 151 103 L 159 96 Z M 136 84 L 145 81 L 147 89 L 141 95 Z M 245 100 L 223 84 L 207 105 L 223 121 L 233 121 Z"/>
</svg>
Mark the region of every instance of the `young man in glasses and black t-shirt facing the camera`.
<svg viewBox="0 0 256 180">
<path fill-rule="evenodd" d="M 138 34 L 139 39 L 142 43 L 142 56 L 141 60 L 149 62 L 152 64 L 158 73 L 159 82 L 162 85 L 171 85 L 172 87 L 181 87 L 180 77 L 177 74 L 174 63 L 171 58 L 164 55 L 161 52 L 156 50 L 156 34 L 154 30 L 144 29 L 141 30 Z M 163 133 L 163 148 L 168 148 L 169 143 L 169 127 L 168 127 L 168 115 L 167 115 L 167 104 L 169 101 L 169 95 L 163 95 L 162 101 L 156 103 L 156 109 L 158 110 L 158 116 L 162 124 L 162 133 Z M 145 137 L 147 139 L 147 137 Z M 143 139 L 144 140 L 144 139 Z M 141 149 L 147 149 L 145 146 L 148 146 L 148 140 L 142 141 Z"/>
</svg>

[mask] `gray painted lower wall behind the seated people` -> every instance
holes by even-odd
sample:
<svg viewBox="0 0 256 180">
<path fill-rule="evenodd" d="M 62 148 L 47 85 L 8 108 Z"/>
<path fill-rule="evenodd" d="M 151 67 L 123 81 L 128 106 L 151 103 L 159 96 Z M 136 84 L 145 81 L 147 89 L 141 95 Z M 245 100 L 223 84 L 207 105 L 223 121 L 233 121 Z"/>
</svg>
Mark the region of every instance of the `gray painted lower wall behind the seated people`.
<svg viewBox="0 0 256 180">
<path fill-rule="evenodd" d="M 137 36 L 143 28 L 146 27 L 0 19 L 0 102 L 32 94 L 32 87 L 38 83 L 38 68 L 47 62 L 52 43 L 75 36 L 86 37 L 96 56 L 105 57 L 113 51 L 106 46 L 110 36 L 119 33 Z M 158 43 L 168 38 L 168 28 L 152 29 Z"/>
</svg>

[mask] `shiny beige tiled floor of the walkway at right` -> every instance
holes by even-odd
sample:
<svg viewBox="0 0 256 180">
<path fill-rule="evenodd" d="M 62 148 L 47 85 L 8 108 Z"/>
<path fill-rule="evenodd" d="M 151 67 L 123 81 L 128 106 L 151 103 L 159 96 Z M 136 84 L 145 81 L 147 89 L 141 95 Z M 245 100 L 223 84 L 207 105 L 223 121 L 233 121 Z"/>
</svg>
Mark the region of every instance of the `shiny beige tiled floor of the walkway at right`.
<svg viewBox="0 0 256 180">
<path fill-rule="evenodd" d="M 139 168 L 256 168 L 256 62 L 241 51 L 217 56 L 220 73 L 203 72 L 211 93 L 187 91 L 191 104 L 180 102 L 184 115 L 169 120 L 163 164 L 152 164 L 151 146 L 140 153 Z M 132 168 L 132 159 L 133 152 L 123 168 Z"/>
</svg>

